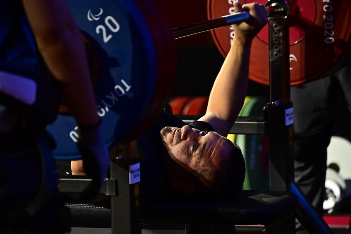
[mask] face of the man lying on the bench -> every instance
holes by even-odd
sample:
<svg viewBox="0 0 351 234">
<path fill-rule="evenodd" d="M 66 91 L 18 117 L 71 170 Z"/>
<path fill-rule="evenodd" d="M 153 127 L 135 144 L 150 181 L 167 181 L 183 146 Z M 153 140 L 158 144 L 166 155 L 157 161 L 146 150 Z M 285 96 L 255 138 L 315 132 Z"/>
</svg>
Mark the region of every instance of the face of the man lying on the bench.
<svg viewBox="0 0 351 234">
<path fill-rule="evenodd" d="M 182 128 L 167 126 L 160 134 L 171 158 L 186 170 L 204 175 L 221 169 L 229 140 L 217 132 L 204 132 L 185 125 Z"/>
</svg>

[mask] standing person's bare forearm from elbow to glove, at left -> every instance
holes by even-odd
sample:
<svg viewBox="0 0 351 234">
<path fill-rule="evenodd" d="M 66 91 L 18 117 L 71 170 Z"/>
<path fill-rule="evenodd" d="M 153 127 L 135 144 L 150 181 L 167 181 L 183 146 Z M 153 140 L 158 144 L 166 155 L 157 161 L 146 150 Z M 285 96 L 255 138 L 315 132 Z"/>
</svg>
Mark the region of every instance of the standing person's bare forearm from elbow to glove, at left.
<svg viewBox="0 0 351 234">
<path fill-rule="evenodd" d="M 91 125 L 98 123 L 99 118 L 81 40 L 80 34 L 66 33 L 40 51 L 48 68 L 59 81 L 66 104 L 78 124 Z"/>
</svg>

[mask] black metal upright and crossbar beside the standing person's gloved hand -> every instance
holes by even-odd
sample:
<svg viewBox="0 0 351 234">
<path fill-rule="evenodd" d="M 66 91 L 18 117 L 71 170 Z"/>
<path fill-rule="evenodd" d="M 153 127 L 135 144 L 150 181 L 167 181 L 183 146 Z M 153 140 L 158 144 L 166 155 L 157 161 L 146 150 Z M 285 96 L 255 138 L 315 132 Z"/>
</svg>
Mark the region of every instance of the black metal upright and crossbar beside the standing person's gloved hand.
<svg viewBox="0 0 351 234">
<path fill-rule="evenodd" d="M 111 159 L 110 178 L 105 179 L 100 193 L 111 197 L 111 233 L 141 234 L 140 182 L 130 184 L 129 166 L 139 158 Z M 81 193 L 91 183 L 85 176 L 60 178 L 62 193 Z"/>
</svg>

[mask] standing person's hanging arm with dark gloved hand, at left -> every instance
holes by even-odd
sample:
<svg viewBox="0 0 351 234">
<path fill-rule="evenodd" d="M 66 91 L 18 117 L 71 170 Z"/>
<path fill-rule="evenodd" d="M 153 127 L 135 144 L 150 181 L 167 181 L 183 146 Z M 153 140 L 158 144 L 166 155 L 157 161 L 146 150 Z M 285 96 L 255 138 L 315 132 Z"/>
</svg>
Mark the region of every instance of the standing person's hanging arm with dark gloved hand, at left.
<svg viewBox="0 0 351 234">
<path fill-rule="evenodd" d="M 67 106 L 79 125 L 82 167 L 93 183 L 81 198 L 96 197 L 110 163 L 97 113 L 87 56 L 66 0 L 22 0 L 44 61 L 59 81 Z"/>
</svg>

